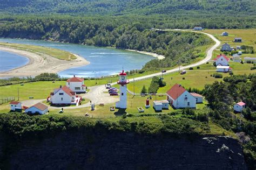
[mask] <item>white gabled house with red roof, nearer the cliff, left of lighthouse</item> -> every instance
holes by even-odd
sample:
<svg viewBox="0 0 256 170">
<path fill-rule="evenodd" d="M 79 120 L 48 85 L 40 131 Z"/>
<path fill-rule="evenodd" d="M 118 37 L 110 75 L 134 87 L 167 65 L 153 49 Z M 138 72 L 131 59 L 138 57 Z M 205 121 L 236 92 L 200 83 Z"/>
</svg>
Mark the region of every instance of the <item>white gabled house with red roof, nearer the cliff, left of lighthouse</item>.
<svg viewBox="0 0 256 170">
<path fill-rule="evenodd" d="M 79 102 L 82 100 L 81 96 L 76 95 L 75 91 L 72 91 L 67 86 L 60 86 L 59 88 L 55 89 L 52 93 L 50 93 L 51 104 L 58 105 L 58 104 L 76 104 L 78 105 Z"/>
</svg>

